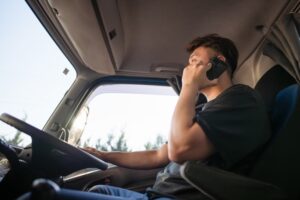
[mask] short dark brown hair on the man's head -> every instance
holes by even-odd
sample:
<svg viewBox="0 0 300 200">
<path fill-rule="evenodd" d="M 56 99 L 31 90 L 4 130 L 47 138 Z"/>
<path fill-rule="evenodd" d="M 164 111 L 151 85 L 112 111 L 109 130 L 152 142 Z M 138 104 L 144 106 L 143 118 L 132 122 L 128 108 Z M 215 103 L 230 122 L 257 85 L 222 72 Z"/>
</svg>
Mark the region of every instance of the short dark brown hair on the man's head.
<svg viewBox="0 0 300 200">
<path fill-rule="evenodd" d="M 225 58 L 226 62 L 231 67 L 231 73 L 237 67 L 239 52 L 233 43 L 228 38 L 220 37 L 218 34 L 209 34 L 203 37 L 197 37 L 191 41 L 187 47 L 187 52 L 192 53 L 198 47 L 209 47 L 218 53 L 221 53 Z"/>
</svg>

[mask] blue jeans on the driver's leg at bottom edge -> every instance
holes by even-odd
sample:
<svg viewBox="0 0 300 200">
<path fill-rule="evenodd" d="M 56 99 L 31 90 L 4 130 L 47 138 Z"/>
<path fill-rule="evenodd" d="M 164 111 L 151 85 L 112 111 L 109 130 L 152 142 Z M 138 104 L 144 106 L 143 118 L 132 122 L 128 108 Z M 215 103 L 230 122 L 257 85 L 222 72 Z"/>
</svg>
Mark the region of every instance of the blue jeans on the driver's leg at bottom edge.
<svg viewBox="0 0 300 200">
<path fill-rule="evenodd" d="M 108 185 L 96 185 L 90 192 L 99 193 L 99 200 L 148 200 L 146 193 L 142 194 L 131 190 Z M 171 200 L 169 197 L 158 197 L 156 200 Z"/>
</svg>

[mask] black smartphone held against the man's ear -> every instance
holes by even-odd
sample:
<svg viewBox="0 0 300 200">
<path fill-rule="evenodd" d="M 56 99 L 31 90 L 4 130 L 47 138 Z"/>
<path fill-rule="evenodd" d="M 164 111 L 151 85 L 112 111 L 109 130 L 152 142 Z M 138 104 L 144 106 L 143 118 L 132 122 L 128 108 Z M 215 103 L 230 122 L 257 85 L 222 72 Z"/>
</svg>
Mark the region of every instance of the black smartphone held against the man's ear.
<svg viewBox="0 0 300 200">
<path fill-rule="evenodd" d="M 209 80 L 218 78 L 228 67 L 228 65 L 217 57 L 210 59 L 211 68 L 206 72 L 206 76 Z"/>
</svg>

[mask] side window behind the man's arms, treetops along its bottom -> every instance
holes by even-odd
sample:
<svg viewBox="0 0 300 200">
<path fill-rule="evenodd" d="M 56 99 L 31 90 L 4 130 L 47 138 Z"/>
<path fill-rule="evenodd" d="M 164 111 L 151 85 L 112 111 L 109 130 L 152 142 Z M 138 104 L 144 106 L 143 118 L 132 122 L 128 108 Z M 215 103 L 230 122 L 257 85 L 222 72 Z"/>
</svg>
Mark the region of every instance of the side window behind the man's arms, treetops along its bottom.
<svg viewBox="0 0 300 200">
<path fill-rule="evenodd" d="M 73 121 L 69 143 L 105 151 L 156 149 L 168 139 L 177 98 L 167 86 L 100 86 Z"/>
</svg>

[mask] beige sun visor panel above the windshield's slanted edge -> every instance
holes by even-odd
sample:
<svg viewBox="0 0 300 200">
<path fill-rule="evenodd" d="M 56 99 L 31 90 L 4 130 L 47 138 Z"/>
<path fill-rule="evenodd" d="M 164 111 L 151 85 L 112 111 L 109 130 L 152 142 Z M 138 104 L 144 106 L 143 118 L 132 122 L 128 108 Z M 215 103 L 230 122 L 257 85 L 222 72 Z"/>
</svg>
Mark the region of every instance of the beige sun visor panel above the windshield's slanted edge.
<svg viewBox="0 0 300 200">
<path fill-rule="evenodd" d="M 100 74 L 115 74 L 115 61 L 108 38 L 92 1 L 48 2 L 84 65 Z"/>
</svg>

